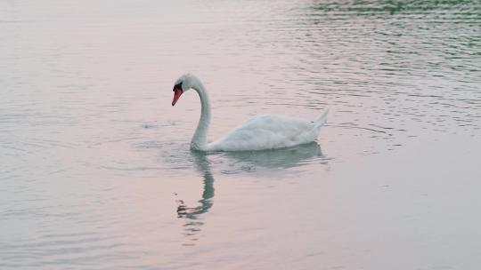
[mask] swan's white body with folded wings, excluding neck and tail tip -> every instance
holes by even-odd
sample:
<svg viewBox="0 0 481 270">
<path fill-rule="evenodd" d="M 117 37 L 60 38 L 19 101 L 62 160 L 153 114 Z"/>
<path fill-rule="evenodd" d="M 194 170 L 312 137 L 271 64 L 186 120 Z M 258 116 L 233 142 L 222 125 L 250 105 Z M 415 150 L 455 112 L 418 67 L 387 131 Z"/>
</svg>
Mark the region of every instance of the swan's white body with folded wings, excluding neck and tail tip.
<svg viewBox="0 0 481 270">
<path fill-rule="evenodd" d="M 281 115 L 257 115 L 208 145 L 212 151 L 292 147 L 317 138 L 314 123 Z"/>
</svg>

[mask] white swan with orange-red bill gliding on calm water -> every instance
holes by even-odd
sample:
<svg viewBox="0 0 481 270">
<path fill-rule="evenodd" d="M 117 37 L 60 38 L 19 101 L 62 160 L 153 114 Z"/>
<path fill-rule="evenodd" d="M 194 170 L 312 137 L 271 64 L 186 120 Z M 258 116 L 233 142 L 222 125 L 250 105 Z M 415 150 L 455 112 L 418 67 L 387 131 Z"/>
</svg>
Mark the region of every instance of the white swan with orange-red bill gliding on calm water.
<svg viewBox="0 0 481 270">
<path fill-rule="evenodd" d="M 208 143 L 210 102 L 204 85 L 196 76 L 185 74 L 175 82 L 172 106 L 190 89 L 197 91 L 201 103 L 200 120 L 191 141 L 192 150 L 247 151 L 305 144 L 317 139 L 328 113 L 326 110 L 315 122 L 281 115 L 257 115 L 241 123 L 223 138 Z"/>
</svg>

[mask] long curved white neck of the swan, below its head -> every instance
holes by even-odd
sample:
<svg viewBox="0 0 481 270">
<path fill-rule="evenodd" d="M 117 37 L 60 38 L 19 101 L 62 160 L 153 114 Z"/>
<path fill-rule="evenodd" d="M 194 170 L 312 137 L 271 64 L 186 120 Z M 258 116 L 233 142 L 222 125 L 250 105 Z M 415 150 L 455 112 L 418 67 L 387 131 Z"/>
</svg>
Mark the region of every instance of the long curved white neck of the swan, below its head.
<svg viewBox="0 0 481 270">
<path fill-rule="evenodd" d="M 208 99 L 208 93 L 204 88 L 204 85 L 200 83 L 199 79 L 195 80 L 192 89 L 197 91 L 200 97 L 200 120 L 197 124 L 197 129 L 192 137 L 191 149 L 194 150 L 207 150 L 208 147 L 208 125 L 210 124 L 210 101 Z"/>
</svg>

